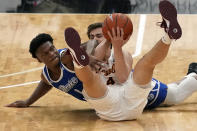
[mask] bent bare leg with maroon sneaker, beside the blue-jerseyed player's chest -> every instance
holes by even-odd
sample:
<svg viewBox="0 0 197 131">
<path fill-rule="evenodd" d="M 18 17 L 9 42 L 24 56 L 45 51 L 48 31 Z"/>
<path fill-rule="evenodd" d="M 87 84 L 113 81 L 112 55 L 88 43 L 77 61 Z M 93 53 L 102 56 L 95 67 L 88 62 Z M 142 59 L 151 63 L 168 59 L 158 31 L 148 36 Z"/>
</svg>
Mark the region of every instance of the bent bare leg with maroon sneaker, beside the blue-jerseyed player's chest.
<svg viewBox="0 0 197 131">
<path fill-rule="evenodd" d="M 89 64 L 89 57 L 84 50 L 80 48 L 80 36 L 73 28 L 65 30 L 65 41 L 73 56 L 75 73 L 83 82 L 83 87 L 89 97 L 99 98 L 105 95 L 107 88 L 102 82 L 100 76 L 93 72 Z"/>
</svg>

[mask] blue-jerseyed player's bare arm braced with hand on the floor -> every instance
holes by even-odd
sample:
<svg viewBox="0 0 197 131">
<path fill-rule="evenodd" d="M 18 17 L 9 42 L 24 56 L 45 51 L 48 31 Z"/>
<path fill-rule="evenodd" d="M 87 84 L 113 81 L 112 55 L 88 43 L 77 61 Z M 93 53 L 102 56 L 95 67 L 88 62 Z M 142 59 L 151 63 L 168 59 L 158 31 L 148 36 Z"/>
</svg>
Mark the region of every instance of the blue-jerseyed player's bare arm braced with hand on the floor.
<svg viewBox="0 0 197 131">
<path fill-rule="evenodd" d="M 41 75 L 41 81 L 39 82 L 37 88 L 34 90 L 32 95 L 27 100 L 20 100 L 15 101 L 9 105 L 6 105 L 7 107 L 29 107 L 31 104 L 36 102 L 39 98 L 44 96 L 51 88 L 52 86 L 48 84 L 46 79 L 44 78 L 43 74 Z"/>
</svg>

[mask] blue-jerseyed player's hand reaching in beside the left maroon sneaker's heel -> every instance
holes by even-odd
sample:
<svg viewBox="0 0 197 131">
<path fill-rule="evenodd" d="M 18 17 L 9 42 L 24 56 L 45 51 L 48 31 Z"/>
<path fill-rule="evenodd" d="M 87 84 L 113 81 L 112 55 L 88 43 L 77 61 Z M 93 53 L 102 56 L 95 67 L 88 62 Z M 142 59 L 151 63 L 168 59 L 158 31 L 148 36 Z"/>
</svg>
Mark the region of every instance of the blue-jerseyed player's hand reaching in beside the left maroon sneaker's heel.
<svg viewBox="0 0 197 131">
<path fill-rule="evenodd" d="M 97 60 L 95 56 L 89 55 L 89 66 L 93 71 L 99 72 L 99 70 L 103 67 L 103 62 Z"/>
</svg>

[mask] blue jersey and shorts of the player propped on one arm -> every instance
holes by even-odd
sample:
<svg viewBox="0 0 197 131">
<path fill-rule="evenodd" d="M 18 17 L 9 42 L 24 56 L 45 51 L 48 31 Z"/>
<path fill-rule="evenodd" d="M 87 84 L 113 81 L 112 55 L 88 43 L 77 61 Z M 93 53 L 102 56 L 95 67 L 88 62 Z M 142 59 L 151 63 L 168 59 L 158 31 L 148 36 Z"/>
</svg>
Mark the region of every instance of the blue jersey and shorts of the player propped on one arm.
<svg viewBox="0 0 197 131">
<path fill-rule="evenodd" d="M 64 50 L 67 49 L 59 49 L 59 54 L 61 55 Z M 61 75 L 57 81 L 53 81 L 50 78 L 48 68 L 46 66 L 44 67 L 43 75 L 45 76 L 46 80 L 55 88 L 66 92 L 79 100 L 85 101 L 82 94 L 83 84 L 77 78 L 75 72 L 66 68 L 61 62 L 59 63 L 59 66 L 61 69 Z M 152 81 L 155 83 L 155 86 L 148 96 L 148 103 L 146 105 L 146 108 L 148 109 L 158 107 L 165 100 L 167 95 L 167 85 L 161 83 L 154 78 L 152 79 Z"/>
</svg>

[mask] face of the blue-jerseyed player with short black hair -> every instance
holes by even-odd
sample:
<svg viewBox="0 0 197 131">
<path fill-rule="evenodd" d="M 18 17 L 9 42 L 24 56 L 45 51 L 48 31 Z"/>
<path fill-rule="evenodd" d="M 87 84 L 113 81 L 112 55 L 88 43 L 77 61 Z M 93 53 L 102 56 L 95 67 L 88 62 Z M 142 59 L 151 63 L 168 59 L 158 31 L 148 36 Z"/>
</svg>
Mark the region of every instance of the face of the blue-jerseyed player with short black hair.
<svg viewBox="0 0 197 131">
<path fill-rule="evenodd" d="M 36 56 L 40 62 L 45 63 L 47 66 L 55 66 L 60 60 L 57 49 L 49 41 L 45 42 L 37 49 Z"/>
</svg>

